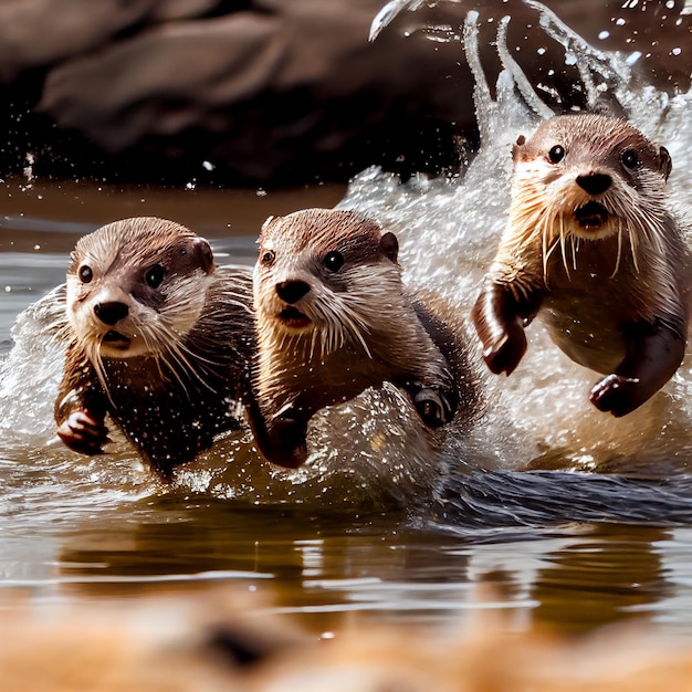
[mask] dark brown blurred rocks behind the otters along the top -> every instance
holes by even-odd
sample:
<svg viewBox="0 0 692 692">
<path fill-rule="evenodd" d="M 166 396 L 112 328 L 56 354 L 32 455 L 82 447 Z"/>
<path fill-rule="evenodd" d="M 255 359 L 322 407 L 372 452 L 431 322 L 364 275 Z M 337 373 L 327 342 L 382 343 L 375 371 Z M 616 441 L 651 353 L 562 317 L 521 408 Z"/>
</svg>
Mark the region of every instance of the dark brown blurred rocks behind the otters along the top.
<svg viewBox="0 0 692 692">
<path fill-rule="evenodd" d="M 491 78 L 496 22 L 511 14 L 516 59 L 546 98 L 580 103 L 576 67 L 518 0 L 440 1 L 368 42 L 384 3 L 3 0 L 0 171 L 29 160 L 56 178 L 268 187 L 373 164 L 405 177 L 453 170 L 475 137 L 472 80 L 460 43 L 441 39 L 472 8 Z M 689 88 L 684 1 L 546 4 L 595 45 L 640 51 L 643 77 Z"/>
</svg>

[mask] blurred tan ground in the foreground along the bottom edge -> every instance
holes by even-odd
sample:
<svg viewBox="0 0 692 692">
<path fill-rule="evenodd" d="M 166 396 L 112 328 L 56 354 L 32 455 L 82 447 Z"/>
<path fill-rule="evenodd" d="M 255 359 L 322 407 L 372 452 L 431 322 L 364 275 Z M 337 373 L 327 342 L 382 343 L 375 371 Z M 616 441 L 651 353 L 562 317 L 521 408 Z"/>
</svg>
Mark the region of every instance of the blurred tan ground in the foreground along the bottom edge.
<svg viewBox="0 0 692 692">
<path fill-rule="evenodd" d="M 28 606 L 3 598 L 6 692 L 593 692 L 692 690 L 692 644 L 638 629 L 577 640 L 510 631 L 492 604 L 457 631 L 354 625 L 319 637 L 203 597 Z M 256 606 L 256 604 L 255 604 Z"/>
</svg>

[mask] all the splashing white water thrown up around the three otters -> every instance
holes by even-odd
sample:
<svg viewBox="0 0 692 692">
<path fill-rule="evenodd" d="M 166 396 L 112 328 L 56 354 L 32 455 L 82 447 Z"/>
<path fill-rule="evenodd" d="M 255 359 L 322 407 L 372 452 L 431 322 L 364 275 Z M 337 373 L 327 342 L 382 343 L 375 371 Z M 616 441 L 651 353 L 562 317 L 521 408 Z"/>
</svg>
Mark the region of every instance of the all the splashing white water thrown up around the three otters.
<svg viewBox="0 0 692 692">
<path fill-rule="evenodd" d="M 376 19 L 374 35 L 399 11 L 421 4 L 421 0 L 390 2 Z M 685 208 L 692 193 L 692 182 L 684 175 L 692 165 L 692 95 L 669 96 L 653 86 L 637 85 L 630 56 L 597 51 L 539 3 L 526 4 L 538 12 L 546 36 L 564 49 L 565 62 L 578 65 L 588 103 L 595 104 L 606 92 L 615 95 L 635 126 L 667 146 L 673 158 L 672 200 Z M 395 176 L 370 169 L 356 177 L 339 205 L 366 212 L 395 231 L 407 282 L 437 290 L 464 315 L 506 222 L 511 146 L 520 134 L 530 134 L 542 118 L 553 115 L 511 55 L 510 21 L 507 17 L 499 22 L 496 51 L 503 71 L 494 96 L 480 59 L 479 13 L 470 12 L 464 23 L 459 50 L 465 52 L 475 78 L 481 145 L 463 174 L 453 180 L 421 177 L 400 185 Z M 60 378 L 61 366 L 55 364 L 61 363 L 62 347 L 36 357 L 32 349 L 45 339 L 41 339 L 39 324 L 44 316 L 34 322 L 35 316 L 35 308 L 30 308 L 18 319 L 17 346 L 0 373 L 0 431 L 3 437 L 11 433 L 11 444 L 18 445 L 27 444 L 25 436 L 31 436 L 32 444 L 54 441 L 52 392 Z M 588 402 L 594 373 L 568 360 L 538 322 L 530 327 L 528 337 L 528 353 L 511 378 L 485 374 L 476 353 L 489 413 L 469 434 L 448 436 L 444 449 L 440 439 L 420 432 L 410 407 L 402 405 L 399 392 L 386 387 L 384 392 L 364 392 L 315 417 L 310 434 L 313 453 L 297 471 L 262 464 L 247 434 L 231 434 L 186 466 L 179 484 L 255 503 L 361 503 L 364 497 L 376 502 L 381 491 L 401 502 L 418 497 L 421 505 L 430 489 L 449 492 L 442 481 L 450 468 L 454 476 L 478 468 L 497 470 L 499 475 L 486 474 L 475 487 L 483 496 L 496 492 L 493 478 L 516 489 L 523 481 L 514 471 L 524 468 L 635 472 L 647 466 L 650 472 L 656 466 L 658 476 L 686 470 L 692 447 L 689 358 L 663 392 L 635 413 L 614 419 Z M 475 344 L 471 332 L 469 338 Z M 44 368 L 36 369 L 38 359 L 46 364 Z M 31 400 L 18 392 L 29 392 L 23 396 Z M 38 398 L 43 403 L 36 407 Z M 132 451 L 112 457 L 119 460 L 118 473 L 133 460 Z M 536 485 L 536 496 L 546 487 L 547 482 Z M 506 493 L 497 494 L 502 503 Z M 521 491 L 515 494 L 522 496 Z M 475 496 L 473 489 L 469 496 Z"/>
</svg>

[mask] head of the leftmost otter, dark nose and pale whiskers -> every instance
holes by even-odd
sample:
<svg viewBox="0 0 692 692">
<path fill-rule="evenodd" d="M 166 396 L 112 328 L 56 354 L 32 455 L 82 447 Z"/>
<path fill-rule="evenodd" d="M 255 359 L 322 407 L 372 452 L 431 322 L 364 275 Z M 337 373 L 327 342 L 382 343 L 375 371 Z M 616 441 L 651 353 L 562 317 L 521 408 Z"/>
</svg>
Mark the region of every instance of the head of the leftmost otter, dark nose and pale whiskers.
<svg viewBox="0 0 692 692">
<path fill-rule="evenodd" d="M 73 334 L 96 366 L 176 352 L 201 314 L 212 272 L 209 243 L 177 223 L 143 217 L 104 226 L 72 253 Z"/>
</svg>

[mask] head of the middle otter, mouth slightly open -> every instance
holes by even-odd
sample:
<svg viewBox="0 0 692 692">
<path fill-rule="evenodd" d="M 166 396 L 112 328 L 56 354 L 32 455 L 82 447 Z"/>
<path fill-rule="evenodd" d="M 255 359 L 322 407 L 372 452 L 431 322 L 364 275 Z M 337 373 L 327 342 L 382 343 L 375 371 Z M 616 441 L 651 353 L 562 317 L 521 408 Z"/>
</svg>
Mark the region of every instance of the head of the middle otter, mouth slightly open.
<svg viewBox="0 0 692 692">
<path fill-rule="evenodd" d="M 401 294 L 396 235 L 352 211 L 307 209 L 268 219 L 259 242 L 260 337 L 304 339 L 311 352 L 346 343 L 367 352 L 382 311 Z"/>
</svg>

